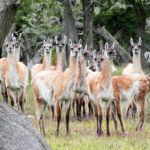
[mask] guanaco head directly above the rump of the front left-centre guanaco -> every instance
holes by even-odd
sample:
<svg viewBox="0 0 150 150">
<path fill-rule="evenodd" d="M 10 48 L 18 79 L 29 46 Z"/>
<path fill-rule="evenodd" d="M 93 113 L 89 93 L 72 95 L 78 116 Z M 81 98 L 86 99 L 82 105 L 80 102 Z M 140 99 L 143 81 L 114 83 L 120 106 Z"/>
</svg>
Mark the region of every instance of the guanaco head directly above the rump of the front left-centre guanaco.
<svg viewBox="0 0 150 150">
<path fill-rule="evenodd" d="M 53 47 L 53 40 L 50 39 L 48 41 L 43 41 L 43 49 L 44 53 L 49 54 L 52 52 L 52 47 Z"/>
</svg>

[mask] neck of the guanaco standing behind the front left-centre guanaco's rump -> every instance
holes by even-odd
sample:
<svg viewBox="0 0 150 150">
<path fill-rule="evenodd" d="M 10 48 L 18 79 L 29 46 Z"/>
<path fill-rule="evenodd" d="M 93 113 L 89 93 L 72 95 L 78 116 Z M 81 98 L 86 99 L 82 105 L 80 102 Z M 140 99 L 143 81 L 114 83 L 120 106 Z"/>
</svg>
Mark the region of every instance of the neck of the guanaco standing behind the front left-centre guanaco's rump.
<svg viewBox="0 0 150 150">
<path fill-rule="evenodd" d="M 46 53 L 44 52 L 44 57 L 43 57 L 43 70 L 48 69 L 49 67 L 52 66 L 52 60 L 51 60 L 51 52 Z"/>
</svg>

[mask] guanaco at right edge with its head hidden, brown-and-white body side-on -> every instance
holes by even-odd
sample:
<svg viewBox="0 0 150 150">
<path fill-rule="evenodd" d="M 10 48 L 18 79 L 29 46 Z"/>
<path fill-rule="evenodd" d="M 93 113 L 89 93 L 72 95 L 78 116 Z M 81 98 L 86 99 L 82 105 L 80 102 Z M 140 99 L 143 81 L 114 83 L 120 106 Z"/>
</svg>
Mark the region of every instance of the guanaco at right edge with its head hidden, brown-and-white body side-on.
<svg viewBox="0 0 150 150">
<path fill-rule="evenodd" d="M 112 85 L 115 102 L 112 103 L 111 107 L 116 132 L 118 132 L 116 120 L 117 114 L 122 132 L 123 134 L 125 134 L 125 129 L 122 122 L 120 103 L 123 101 L 129 101 L 131 103 L 131 100 L 133 98 L 138 102 L 140 106 L 140 120 L 136 128 L 136 131 L 140 131 L 142 129 L 145 119 L 145 100 L 150 88 L 150 78 L 140 74 L 114 76 L 112 78 Z"/>
</svg>

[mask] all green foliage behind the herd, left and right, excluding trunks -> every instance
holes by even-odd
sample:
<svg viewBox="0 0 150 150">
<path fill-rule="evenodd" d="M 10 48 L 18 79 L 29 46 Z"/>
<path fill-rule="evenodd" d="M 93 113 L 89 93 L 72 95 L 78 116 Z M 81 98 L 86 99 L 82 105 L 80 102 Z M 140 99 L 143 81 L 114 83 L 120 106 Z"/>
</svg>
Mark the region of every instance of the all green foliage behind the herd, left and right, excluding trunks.
<svg viewBox="0 0 150 150">
<path fill-rule="evenodd" d="M 94 7 L 94 26 L 105 26 L 112 35 L 123 29 L 119 42 L 127 48 L 130 37 L 137 38 L 138 36 L 139 27 L 135 7 L 141 6 L 143 14 L 147 18 L 150 17 L 150 4 L 147 4 L 149 1 L 136 0 L 135 2 L 134 6 L 129 0 L 91 0 L 91 7 Z M 72 6 L 72 11 L 74 19 L 83 23 L 82 0 L 79 1 L 79 5 Z M 23 0 L 15 22 L 17 26 L 21 27 L 23 33 L 24 53 L 27 52 L 32 58 L 41 47 L 44 38 L 61 34 L 62 15 L 61 1 Z M 147 29 L 150 28 L 149 26 Z M 82 35 L 83 31 L 80 29 L 78 33 Z M 97 48 L 101 37 L 93 33 L 93 39 L 94 48 Z M 149 34 L 145 36 L 145 39 L 147 42 L 150 41 Z"/>
</svg>

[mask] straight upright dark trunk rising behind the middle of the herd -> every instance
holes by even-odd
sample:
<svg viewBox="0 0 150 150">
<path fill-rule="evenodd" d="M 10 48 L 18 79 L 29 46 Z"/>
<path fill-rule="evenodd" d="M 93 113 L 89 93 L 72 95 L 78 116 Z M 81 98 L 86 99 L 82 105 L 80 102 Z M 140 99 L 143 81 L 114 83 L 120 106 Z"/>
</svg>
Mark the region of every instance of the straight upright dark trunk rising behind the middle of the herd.
<svg viewBox="0 0 150 150">
<path fill-rule="evenodd" d="M 88 49 L 93 49 L 93 8 L 91 0 L 82 0 L 83 4 L 83 45 L 87 44 Z"/>
</svg>

